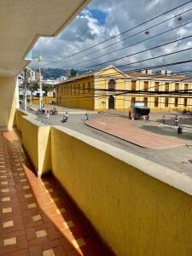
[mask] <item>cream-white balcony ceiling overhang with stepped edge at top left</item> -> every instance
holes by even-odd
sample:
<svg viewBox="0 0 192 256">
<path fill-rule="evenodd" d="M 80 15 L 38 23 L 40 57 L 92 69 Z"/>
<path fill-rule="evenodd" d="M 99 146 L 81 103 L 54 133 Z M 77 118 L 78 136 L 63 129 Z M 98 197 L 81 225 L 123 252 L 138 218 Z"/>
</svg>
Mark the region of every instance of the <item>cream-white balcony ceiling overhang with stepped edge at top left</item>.
<svg viewBox="0 0 192 256">
<path fill-rule="evenodd" d="M 90 0 L 1 0 L 0 75 L 17 75 L 40 36 L 53 37 Z"/>
</svg>

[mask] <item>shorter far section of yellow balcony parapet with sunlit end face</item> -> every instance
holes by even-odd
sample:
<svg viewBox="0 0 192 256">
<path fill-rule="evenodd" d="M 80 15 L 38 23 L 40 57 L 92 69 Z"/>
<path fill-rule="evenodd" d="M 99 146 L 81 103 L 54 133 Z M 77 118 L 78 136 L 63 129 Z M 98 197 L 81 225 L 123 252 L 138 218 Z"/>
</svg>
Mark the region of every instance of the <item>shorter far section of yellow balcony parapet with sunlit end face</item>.
<svg viewBox="0 0 192 256">
<path fill-rule="evenodd" d="M 30 114 L 17 110 L 17 129 L 38 176 L 51 170 L 50 126 L 42 125 Z"/>
</svg>

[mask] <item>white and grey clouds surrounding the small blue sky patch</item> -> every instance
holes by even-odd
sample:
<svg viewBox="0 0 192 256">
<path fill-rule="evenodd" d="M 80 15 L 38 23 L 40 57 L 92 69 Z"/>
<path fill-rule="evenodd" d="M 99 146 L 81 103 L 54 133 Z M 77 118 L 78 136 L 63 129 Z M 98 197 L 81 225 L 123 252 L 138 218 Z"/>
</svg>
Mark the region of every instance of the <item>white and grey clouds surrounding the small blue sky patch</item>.
<svg viewBox="0 0 192 256">
<path fill-rule="evenodd" d="M 78 15 L 76 19 L 73 20 L 73 22 L 69 26 L 67 26 L 67 28 L 63 32 L 61 32 L 61 34 L 58 37 L 42 38 L 41 40 L 39 40 L 34 48 L 34 54 L 36 55 L 38 52 L 41 53 L 44 60 L 43 64 L 60 60 L 62 57 L 73 55 L 74 53 L 79 52 L 83 49 L 90 48 L 91 46 L 100 43 L 106 38 L 113 37 L 114 35 L 119 34 L 119 32 L 124 32 L 125 30 L 128 30 L 133 26 L 137 26 L 137 24 L 140 24 L 145 20 L 153 18 L 155 15 L 160 15 L 161 13 L 166 12 L 166 10 L 172 9 L 182 3 L 183 0 L 170 0 L 169 2 L 167 2 L 166 0 L 93 0 L 90 3 L 88 9 L 84 9 L 83 12 L 80 15 Z M 117 53 L 101 56 L 96 60 L 84 62 L 84 64 L 77 65 L 77 63 L 79 62 L 88 61 L 96 56 L 107 54 L 108 52 L 111 52 L 115 49 L 120 49 L 127 45 L 135 44 L 136 42 L 143 40 L 147 37 L 151 37 L 157 33 L 164 32 L 169 28 L 179 26 L 180 24 L 192 20 L 192 12 L 188 12 L 182 15 L 182 20 L 180 21 L 177 20 L 177 18 L 174 18 L 169 22 L 163 23 L 160 26 L 156 26 L 153 29 L 150 29 L 150 33 L 148 36 L 143 32 L 135 37 L 122 41 L 119 44 L 114 44 L 111 47 L 105 48 L 108 44 L 118 42 L 119 39 L 129 37 L 133 33 L 139 32 L 140 30 L 148 29 L 149 26 L 153 26 L 155 23 L 163 21 L 168 17 L 173 17 L 174 15 L 177 15 L 183 10 L 187 10 L 191 7 L 192 3 L 186 7 L 183 7 L 182 9 L 175 10 L 174 12 L 172 12 L 172 14 L 163 15 L 159 19 L 148 22 L 148 24 L 144 26 L 139 26 L 138 28 L 130 32 L 126 32 L 125 34 L 122 34 L 117 38 L 113 38 L 104 44 L 99 44 L 95 48 L 83 51 L 79 55 L 74 55 L 58 63 L 53 63 L 49 67 L 90 67 L 92 65 L 96 65 L 104 61 L 110 61 L 115 57 L 118 58 L 124 55 L 129 55 L 131 53 L 136 53 L 137 51 L 140 51 L 142 49 L 148 49 L 158 44 L 164 44 L 172 40 L 176 40 L 177 38 L 186 37 L 191 34 L 191 25 L 183 26 L 172 32 L 165 33 L 160 37 L 145 41 L 143 42 L 143 44 L 137 44 L 127 49 L 118 51 Z M 93 15 L 93 13 L 91 12 L 91 10 L 93 9 L 97 9 L 102 13 L 106 14 L 106 20 L 103 23 L 100 22 L 99 16 L 96 17 L 96 15 Z M 114 61 L 113 64 L 123 65 L 128 62 L 132 62 L 133 60 L 139 61 L 145 58 L 147 59 L 149 57 L 153 57 L 155 55 L 167 54 L 177 49 L 184 49 L 187 48 L 187 45 L 192 44 L 191 41 L 191 38 L 189 38 L 184 42 L 181 41 L 177 44 L 166 45 L 165 47 L 154 49 L 140 55 L 133 55 L 131 58 L 124 58 L 121 61 Z M 88 55 L 89 53 L 97 49 L 102 50 L 91 55 Z M 182 55 L 172 55 L 167 58 L 165 57 L 159 60 L 149 61 L 148 63 L 143 62 L 140 63 L 137 67 L 144 67 L 147 64 L 155 65 L 163 62 L 167 63 L 169 61 L 181 61 L 185 60 L 186 58 L 189 59 L 189 52 L 183 52 Z M 33 67 L 36 65 L 36 63 L 32 64 Z M 131 67 L 125 68 L 128 69 Z"/>
</svg>

